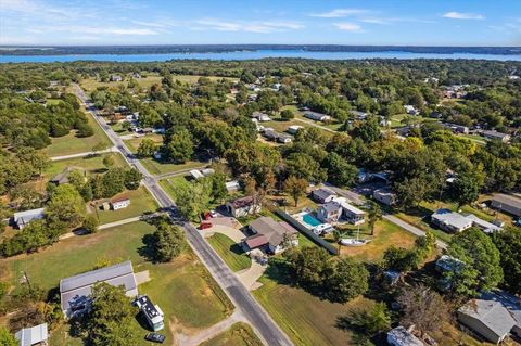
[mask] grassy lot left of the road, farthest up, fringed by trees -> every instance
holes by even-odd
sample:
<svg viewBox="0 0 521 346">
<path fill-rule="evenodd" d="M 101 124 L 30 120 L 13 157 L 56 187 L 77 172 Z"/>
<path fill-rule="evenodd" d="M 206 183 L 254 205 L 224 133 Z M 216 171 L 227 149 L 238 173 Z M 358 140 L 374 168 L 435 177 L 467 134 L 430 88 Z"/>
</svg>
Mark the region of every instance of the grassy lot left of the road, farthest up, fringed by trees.
<svg viewBox="0 0 521 346">
<path fill-rule="evenodd" d="M 42 151 L 48 156 L 52 157 L 90 152 L 92 151 L 92 146 L 100 142 L 106 143 L 106 145 L 110 146 L 111 142 L 98 123 L 96 123 L 90 114 L 86 113 L 86 116 L 89 119 L 90 126 L 94 130 L 94 134 L 91 137 L 79 138 L 76 137 L 76 131 L 74 130 L 67 136 L 52 138 L 51 145 L 45 148 Z"/>
</svg>

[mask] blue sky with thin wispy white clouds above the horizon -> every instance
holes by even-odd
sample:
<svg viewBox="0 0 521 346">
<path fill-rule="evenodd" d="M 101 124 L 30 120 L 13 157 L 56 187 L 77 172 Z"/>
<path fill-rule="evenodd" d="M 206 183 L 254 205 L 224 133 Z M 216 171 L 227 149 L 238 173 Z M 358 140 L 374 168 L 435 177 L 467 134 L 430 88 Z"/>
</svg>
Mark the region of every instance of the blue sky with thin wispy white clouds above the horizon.
<svg viewBox="0 0 521 346">
<path fill-rule="evenodd" d="M 0 44 L 521 46 L 521 0 L 0 0 Z"/>
</svg>

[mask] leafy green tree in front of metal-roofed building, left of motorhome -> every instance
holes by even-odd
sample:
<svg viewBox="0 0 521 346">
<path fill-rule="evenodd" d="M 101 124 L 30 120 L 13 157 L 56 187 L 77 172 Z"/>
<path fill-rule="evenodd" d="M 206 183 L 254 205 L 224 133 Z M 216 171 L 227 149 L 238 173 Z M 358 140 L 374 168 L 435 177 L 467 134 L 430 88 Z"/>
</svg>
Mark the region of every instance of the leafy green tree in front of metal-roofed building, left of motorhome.
<svg viewBox="0 0 521 346">
<path fill-rule="evenodd" d="M 137 308 L 122 286 L 98 283 L 92 286 L 91 302 L 87 334 L 92 345 L 126 346 L 138 341 L 134 328 Z"/>
</svg>

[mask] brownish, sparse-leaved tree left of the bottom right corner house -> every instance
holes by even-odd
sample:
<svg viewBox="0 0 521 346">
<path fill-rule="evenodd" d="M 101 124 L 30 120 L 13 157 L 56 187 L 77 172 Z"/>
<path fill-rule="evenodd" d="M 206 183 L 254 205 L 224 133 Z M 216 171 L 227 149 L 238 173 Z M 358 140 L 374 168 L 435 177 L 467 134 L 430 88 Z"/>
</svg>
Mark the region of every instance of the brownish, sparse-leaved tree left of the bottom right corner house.
<svg viewBox="0 0 521 346">
<path fill-rule="evenodd" d="M 449 308 L 442 296 L 421 283 L 402 290 L 397 302 L 403 311 L 401 324 L 405 328 L 415 325 L 427 334 L 439 331 L 448 321 Z"/>
</svg>

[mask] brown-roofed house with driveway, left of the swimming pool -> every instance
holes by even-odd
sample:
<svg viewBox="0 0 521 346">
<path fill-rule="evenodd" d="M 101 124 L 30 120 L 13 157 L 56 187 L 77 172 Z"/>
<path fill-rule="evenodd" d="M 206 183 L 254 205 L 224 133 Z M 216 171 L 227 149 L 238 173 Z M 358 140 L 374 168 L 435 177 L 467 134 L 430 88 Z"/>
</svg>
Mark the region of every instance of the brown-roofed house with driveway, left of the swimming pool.
<svg viewBox="0 0 521 346">
<path fill-rule="evenodd" d="M 254 248 L 265 248 L 277 254 L 283 251 L 285 242 L 293 246 L 298 245 L 298 233 L 288 222 L 277 222 L 270 217 L 262 216 L 249 226 L 253 235 L 243 239 L 243 247 L 246 252 Z"/>
</svg>

